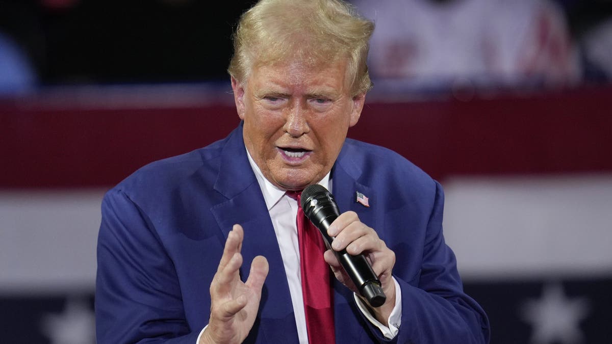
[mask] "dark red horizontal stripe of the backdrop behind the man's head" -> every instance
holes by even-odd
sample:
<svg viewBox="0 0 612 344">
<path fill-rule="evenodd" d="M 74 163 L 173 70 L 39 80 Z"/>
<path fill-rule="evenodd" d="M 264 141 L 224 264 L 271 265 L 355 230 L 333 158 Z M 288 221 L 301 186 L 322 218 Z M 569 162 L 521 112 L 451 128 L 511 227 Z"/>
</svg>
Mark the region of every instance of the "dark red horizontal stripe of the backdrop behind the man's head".
<svg viewBox="0 0 612 344">
<path fill-rule="evenodd" d="M 0 102 L 0 187 L 114 185 L 145 163 L 223 138 L 238 123 L 227 101 L 151 103 Z M 612 88 L 469 102 L 368 99 L 349 136 L 394 149 L 436 179 L 612 171 L 611 115 Z"/>
</svg>

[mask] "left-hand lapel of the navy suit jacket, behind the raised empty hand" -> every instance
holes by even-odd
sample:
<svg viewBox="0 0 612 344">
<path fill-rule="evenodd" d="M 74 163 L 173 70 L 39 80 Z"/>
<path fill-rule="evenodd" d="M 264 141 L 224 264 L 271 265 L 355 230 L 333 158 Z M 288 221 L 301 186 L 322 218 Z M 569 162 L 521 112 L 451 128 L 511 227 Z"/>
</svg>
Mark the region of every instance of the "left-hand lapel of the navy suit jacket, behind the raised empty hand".
<svg viewBox="0 0 612 344">
<path fill-rule="evenodd" d="M 227 200 L 213 206 L 211 212 L 225 238 L 234 224 L 238 223 L 244 228 L 241 278 L 243 281 L 247 279 L 255 256 L 265 256 L 270 266 L 263 286 L 258 320 L 253 326 L 259 326 L 262 333 L 251 331 L 245 342 L 297 342 L 283 259 L 266 202 L 248 163 L 242 141 L 242 125 L 231 134 L 221 159 L 215 190 L 225 195 Z M 280 341 L 279 336 L 282 338 Z"/>
</svg>

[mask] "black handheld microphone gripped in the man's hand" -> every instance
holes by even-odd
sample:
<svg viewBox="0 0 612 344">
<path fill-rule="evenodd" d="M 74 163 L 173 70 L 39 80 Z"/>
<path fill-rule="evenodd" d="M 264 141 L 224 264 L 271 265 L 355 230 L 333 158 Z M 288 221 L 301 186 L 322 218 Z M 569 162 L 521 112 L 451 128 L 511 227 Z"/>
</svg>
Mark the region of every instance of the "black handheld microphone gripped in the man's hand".
<svg viewBox="0 0 612 344">
<path fill-rule="evenodd" d="M 331 249 L 334 238 L 327 235 L 327 228 L 340 216 L 334 196 L 319 184 L 308 185 L 302 191 L 300 203 L 308 220 L 319 228 L 327 248 Z M 372 307 L 383 305 L 387 297 L 383 292 L 380 280 L 376 277 L 365 256 L 350 255 L 346 250 L 332 251 L 346 274 L 357 286 L 359 294 L 365 297 Z"/>
</svg>

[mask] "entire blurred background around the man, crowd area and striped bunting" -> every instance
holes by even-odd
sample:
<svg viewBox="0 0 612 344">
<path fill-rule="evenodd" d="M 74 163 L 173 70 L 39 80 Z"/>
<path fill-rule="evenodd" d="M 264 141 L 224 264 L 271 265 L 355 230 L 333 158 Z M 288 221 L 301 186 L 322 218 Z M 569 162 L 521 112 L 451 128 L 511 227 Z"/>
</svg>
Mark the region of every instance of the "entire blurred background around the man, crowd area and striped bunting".
<svg viewBox="0 0 612 344">
<path fill-rule="evenodd" d="M 94 343 L 102 195 L 237 125 L 252 2 L 0 0 L 2 342 Z M 353 4 L 375 88 L 349 136 L 442 183 L 491 343 L 610 343 L 612 1 Z"/>
</svg>

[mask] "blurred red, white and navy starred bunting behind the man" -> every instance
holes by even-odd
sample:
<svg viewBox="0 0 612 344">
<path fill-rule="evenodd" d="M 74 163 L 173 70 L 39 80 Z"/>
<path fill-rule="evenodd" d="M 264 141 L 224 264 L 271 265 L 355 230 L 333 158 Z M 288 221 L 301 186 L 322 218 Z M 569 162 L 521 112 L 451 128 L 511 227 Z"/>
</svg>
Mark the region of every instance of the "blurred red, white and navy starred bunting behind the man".
<svg viewBox="0 0 612 344">
<path fill-rule="evenodd" d="M 239 122 L 229 91 L 91 86 L 0 100 L 2 342 L 94 343 L 103 193 L 223 138 Z M 459 98 L 374 94 L 349 136 L 442 182 L 445 236 L 491 343 L 609 343 L 612 89 Z"/>
</svg>

